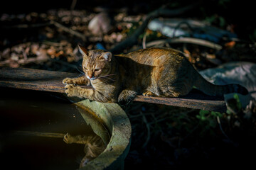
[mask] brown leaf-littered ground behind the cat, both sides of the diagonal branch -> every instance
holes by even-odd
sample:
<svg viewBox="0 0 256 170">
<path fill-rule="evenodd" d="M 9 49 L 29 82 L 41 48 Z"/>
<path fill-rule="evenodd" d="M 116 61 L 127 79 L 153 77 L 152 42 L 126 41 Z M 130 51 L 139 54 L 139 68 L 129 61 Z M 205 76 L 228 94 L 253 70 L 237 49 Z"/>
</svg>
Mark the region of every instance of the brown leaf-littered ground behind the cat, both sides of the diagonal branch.
<svg viewBox="0 0 256 170">
<path fill-rule="evenodd" d="M 48 60 L 78 62 L 81 59 L 80 56 L 74 55 L 77 53 L 74 50 L 78 44 L 84 45 L 89 50 L 97 49 L 97 45 L 100 44 L 104 49 L 110 50 L 134 33 L 145 17 L 144 14 L 129 16 L 127 11 L 110 16 L 106 12 L 97 14 L 85 10 L 64 9 L 50 10 L 46 13 L 3 14 L 0 17 L 0 21 L 4 23 L 2 29 L 7 31 L 6 28 L 11 28 L 10 31 L 13 31 L 16 36 L 14 30 L 18 28 L 19 37 L 17 36 L 16 42 L 10 37 L 0 40 L 2 44 L 0 66 L 21 67 Z M 25 30 L 28 33 L 22 35 L 21 33 Z M 34 33 L 30 34 L 29 30 Z M 159 31 L 147 29 L 146 33 L 139 36 L 137 44 L 125 49 L 124 52 L 137 50 L 142 45 L 146 47 L 159 39 L 165 40 L 163 38 L 165 38 L 164 35 Z M 230 41 L 225 42 L 223 46 L 218 45 L 220 47 L 217 48 L 216 45 L 212 45 L 213 43 L 206 45 L 202 41 L 201 44 L 196 44 L 190 42 L 191 38 L 189 42 L 184 41 L 185 39 L 189 38 L 181 38 L 182 42 L 178 38 L 166 39 L 158 46 L 174 47 L 183 51 L 188 60 L 198 69 L 215 67 L 225 60 L 230 61 L 230 58 L 225 58 L 229 54 L 227 51 L 234 51 L 233 49 L 238 45 L 237 42 Z M 199 42 L 199 39 L 196 42 Z M 31 47 L 26 43 L 30 43 Z M 233 53 L 233 55 L 236 54 Z"/>
</svg>

